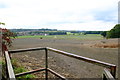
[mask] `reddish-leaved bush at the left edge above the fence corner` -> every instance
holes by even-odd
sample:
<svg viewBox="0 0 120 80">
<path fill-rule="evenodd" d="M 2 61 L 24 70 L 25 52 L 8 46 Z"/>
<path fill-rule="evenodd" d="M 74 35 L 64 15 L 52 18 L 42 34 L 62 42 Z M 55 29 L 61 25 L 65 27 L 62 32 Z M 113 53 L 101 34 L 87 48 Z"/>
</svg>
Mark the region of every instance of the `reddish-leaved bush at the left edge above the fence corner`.
<svg viewBox="0 0 120 80">
<path fill-rule="evenodd" d="M 5 25 L 5 24 L 2 24 Z M 0 28 L 0 40 L 2 51 L 8 50 L 7 47 L 12 46 L 12 40 L 15 38 L 15 34 L 6 28 Z"/>
</svg>

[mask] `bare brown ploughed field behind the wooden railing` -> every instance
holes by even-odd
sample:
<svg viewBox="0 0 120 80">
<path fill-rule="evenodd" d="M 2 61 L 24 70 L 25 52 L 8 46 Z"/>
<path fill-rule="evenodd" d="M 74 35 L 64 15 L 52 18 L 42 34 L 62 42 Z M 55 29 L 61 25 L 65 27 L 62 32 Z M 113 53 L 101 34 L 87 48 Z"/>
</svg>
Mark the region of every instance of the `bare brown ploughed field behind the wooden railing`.
<svg viewBox="0 0 120 80">
<path fill-rule="evenodd" d="M 84 57 L 118 65 L 118 39 L 103 40 L 74 40 L 22 38 L 15 39 L 14 49 L 52 47 Z M 114 47 L 111 47 L 114 46 Z M 44 51 L 31 51 L 13 54 L 21 65 L 32 70 L 44 67 Z M 49 52 L 49 67 L 67 78 L 101 78 L 103 67 L 79 61 L 57 53 Z M 36 73 L 36 77 L 43 78 L 44 72 Z M 50 77 L 54 77 L 50 74 Z"/>
</svg>

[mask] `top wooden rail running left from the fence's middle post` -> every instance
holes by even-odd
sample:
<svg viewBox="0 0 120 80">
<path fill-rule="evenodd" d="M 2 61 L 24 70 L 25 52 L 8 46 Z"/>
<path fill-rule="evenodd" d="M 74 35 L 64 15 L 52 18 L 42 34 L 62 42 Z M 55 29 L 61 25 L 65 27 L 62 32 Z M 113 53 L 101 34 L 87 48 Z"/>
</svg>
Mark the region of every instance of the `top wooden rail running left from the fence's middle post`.
<svg viewBox="0 0 120 80">
<path fill-rule="evenodd" d="M 45 50 L 46 48 L 37 47 L 37 48 L 27 48 L 27 49 L 17 49 L 17 50 L 9 50 L 9 53 L 18 53 L 18 52 L 26 52 L 26 51 L 36 51 L 36 50 Z"/>
</svg>

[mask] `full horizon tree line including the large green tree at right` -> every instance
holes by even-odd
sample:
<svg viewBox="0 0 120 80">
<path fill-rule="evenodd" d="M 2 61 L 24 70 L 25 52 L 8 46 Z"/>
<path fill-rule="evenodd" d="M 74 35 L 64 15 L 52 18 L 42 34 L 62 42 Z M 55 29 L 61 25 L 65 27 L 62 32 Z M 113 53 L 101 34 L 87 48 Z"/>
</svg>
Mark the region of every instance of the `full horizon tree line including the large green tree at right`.
<svg viewBox="0 0 120 80">
<path fill-rule="evenodd" d="M 15 32 L 16 35 L 67 35 L 67 33 L 74 34 L 101 34 L 105 38 L 120 38 L 120 24 L 116 24 L 109 31 L 70 31 L 70 30 L 57 30 L 57 29 L 10 29 L 12 32 Z M 73 33 L 73 34 L 72 34 Z"/>
</svg>

